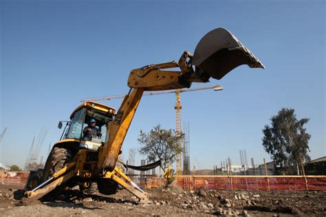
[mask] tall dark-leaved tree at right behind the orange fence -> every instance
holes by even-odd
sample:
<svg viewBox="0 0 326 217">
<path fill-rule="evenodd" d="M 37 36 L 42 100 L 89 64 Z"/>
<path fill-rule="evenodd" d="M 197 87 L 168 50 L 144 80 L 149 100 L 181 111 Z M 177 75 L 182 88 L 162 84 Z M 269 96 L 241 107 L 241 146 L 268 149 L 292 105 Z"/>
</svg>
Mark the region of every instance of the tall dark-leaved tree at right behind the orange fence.
<svg viewBox="0 0 326 217">
<path fill-rule="evenodd" d="M 263 147 L 271 155 L 275 165 L 279 165 L 281 173 L 288 173 L 289 168 L 300 165 L 300 161 L 309 161 L 308 141 L 304 124 L 309 119 L 296 119 L 294 109 L 283 108 L 270 119 L 272 126 L 263 128 Z"/>
</svg>

